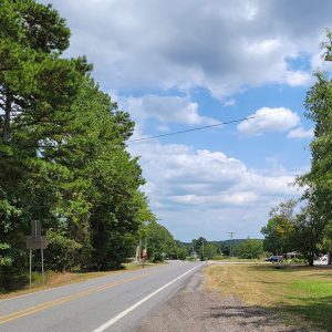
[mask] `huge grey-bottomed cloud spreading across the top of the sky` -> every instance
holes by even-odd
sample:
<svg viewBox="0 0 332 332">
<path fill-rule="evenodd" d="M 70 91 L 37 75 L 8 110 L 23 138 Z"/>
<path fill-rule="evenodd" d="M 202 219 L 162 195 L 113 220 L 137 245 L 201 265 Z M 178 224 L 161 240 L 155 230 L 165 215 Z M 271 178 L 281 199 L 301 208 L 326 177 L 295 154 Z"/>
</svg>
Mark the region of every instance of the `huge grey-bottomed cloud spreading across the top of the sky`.
<svg viewBox="0 0 332 332">
<path fill-rule="evenodd" d="M 86 54 L 104 87 L 204 86 L 220 98 L 266 83 L 308 84 L 310 73 L 286 60 L 317 53 L 332 11 L 325 0 L 52 2 L 72 29 L 69 54 Z"/>
</svg>

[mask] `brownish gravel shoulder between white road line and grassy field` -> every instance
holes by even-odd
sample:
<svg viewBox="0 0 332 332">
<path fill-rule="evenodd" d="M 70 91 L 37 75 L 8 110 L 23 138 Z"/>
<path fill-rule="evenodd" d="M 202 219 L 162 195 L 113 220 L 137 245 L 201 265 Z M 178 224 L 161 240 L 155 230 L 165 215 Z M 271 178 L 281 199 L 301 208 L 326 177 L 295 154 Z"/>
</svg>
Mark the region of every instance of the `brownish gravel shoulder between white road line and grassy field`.
<svg viewBox="0 0 332 332">
<path fill-rule="evenodd" d="M 201 271 L 167 302 L 154 309 L 134 332 L 309 331 L 286 326 L 273 313 L 249 308 L 239 298 L 207 291 Z M 313 330 L 310 330 L 313 331 Z"/>
</svg>

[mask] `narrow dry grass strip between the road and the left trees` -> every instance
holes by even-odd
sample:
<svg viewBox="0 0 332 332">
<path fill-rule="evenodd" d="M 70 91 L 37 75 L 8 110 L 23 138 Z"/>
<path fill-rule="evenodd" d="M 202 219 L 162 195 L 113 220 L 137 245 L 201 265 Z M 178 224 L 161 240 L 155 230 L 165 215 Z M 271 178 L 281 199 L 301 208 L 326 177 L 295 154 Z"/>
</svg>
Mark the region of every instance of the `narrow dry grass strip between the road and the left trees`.
<svg viewBox="0 0 332 332">
<path fill-rule="evenodd" d="M 65 286 L 65 284 L 70 284 L 70 283 L 75 283 L 75 282 L 82 282 L 82 281 L 93 279 L 93 278 L 125 273 L 127 271 L 134 271 L 134 270 L 142 269 L 142 264 L 138 264 L 135 262 L 124 263 L 123 266 L 124 266 L 123 270 L 112 270 L 112 271 L 101 271 L 101 272 L 65 272 L 65 273 L 62 273 L 62 272 L 46 271 L 45 272 L 45 284 L 43 284 L 41 273 L 33 272 L 31 289 L 29 288 L 29 284 L 28 284 L 24 289 L 21 289 L 21 290 L 8 292 L 8 293 L 0 293 L 0 300 L 15 298 L 19 295 L 33 293 L 33 292 L 38 292 L 38 291 L 54 288 L 54 287 Z M 149 263 L 149 262 L 145 263 L 146 268 L 151 268 L 154 266 L 156 266 L 156 263 Z"/>
</svg>

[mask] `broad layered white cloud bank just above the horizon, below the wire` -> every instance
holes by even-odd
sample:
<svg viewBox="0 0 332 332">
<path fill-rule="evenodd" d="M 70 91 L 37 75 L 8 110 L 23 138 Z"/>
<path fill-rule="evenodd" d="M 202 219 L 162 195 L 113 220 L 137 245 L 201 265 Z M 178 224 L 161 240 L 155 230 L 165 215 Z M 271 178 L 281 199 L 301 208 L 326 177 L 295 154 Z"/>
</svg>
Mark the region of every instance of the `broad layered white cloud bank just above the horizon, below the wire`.
<svg viewBox="0 0 332 332">
<path fill-rule="evenodd" d="M 201 224 L 210 239 L 234 228 L 257 236 L 272 206 L 299 195 L 290 186 L 294 174 L 263 175 L 222 152 L 159 143 L 129 149 L 141 156 L 154 211 L 181 239 L 194 238 L 196 229 L 201 232 Z"/>
</svg>

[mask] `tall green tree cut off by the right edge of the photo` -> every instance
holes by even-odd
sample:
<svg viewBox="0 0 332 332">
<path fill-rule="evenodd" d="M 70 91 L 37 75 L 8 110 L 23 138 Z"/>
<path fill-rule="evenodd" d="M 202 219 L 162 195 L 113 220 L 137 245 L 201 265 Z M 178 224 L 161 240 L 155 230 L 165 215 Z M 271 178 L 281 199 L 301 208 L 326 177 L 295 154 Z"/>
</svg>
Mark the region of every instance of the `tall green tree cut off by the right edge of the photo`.
<svg viewBox="0 0 332 332">
<path fill-rule="evenodd" d="M 322 48 L 324 60 L 331 61 L 332 34 L 329 30 Z M 307 187 L 303 199 L 308 200 L 310 207 L 310 229 L 320 229 L 321 234 L 325 235 L 326 243 L 329 242 L 329 227 L 332 220 L 332 81 L 321 72 L 318 72 L 315 77 L 317 82 L 307 93 L 304 103 L 307 117 L 315 123 L 314 138 L 310 145 L 311 169 L 299 178 L 299 184 Z M 317 231 L 314 232 L 317 234 Z M 317 240 L 320 239 L 317 238 Z M 329 250 L 331 262 L 331 248 Z"/>
</svg>

